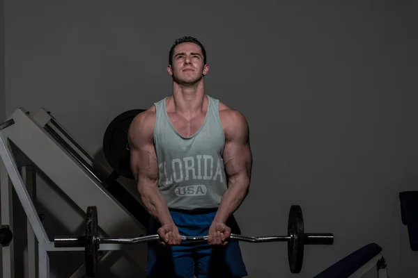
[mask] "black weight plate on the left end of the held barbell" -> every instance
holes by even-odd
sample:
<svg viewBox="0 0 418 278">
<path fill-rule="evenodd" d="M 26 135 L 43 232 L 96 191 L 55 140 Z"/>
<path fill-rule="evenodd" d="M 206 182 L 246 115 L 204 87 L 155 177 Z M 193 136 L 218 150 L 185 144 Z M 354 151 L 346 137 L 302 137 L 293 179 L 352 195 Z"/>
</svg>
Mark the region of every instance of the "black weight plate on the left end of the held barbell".
<svg viewBox="0 0 418 278">
<path fill-rule="evenodd" d="M 84 250 L 87 277 L 95 277 L 97 272 L 98 249 L 98 210 L 95 206 L 88 206 L 86 211 L 86 247 Z"/>
</svg>

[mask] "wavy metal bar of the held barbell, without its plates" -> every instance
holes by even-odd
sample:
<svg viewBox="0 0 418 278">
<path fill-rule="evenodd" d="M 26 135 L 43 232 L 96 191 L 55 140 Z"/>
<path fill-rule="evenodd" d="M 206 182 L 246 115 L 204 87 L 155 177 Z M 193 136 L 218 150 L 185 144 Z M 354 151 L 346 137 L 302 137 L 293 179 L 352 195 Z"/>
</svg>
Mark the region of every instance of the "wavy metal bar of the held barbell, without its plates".
<svg viewBox="0 0 418 278">
<path fill-rule="evenodd" d="M 206 242 L 208 236 L 180 236 L 184 242 Z M 246 241 L 248 243 L 270 243 L 275 241 L 289 241 L 292 240 L 291 236 L 264 236 L 264 237 L 252 237 L 242 236 L 238 234 L 231 234 L 229 238 L 233 240 Z M 132 243 L 146 243 L 150 241 L 160 240 L 160 236 L 155 234 L 151 236 L 141 236 L 139 238 L 98 238 L 98 242 L 102 244 L 119 243 L 119 244 L 132 244 Z M 334 236 L 332 234 L 305 234 L 304 243 L 309 245 L 332 245 L 334 243 Z M 84 236 L 56 236 L 54 238 L 55 247 L 85 247 L 86 238 Z"/>
</svg>

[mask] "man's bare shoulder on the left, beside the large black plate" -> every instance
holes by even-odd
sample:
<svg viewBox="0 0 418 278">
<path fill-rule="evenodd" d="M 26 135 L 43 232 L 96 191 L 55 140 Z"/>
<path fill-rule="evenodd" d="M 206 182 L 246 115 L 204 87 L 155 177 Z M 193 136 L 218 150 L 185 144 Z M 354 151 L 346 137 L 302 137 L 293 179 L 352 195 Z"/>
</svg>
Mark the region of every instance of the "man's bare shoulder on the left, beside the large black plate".
<svg viewBox="0 0 418 278">
<path fill-rule="evenodd" d="M 139 113 L 132 120 L 128 138 L 131 142 L 137 142 L 138 140 L 146 140 L 153 138 L 155 124 L 155 106 L 151 106 L 146 111 Z"/>
</svg>

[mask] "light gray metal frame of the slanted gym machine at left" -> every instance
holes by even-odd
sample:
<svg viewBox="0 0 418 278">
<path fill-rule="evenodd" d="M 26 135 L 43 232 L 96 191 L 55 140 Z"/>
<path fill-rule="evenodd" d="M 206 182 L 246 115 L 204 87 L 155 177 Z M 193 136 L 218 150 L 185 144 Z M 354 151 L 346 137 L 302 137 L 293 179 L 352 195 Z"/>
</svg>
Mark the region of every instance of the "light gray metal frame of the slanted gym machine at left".
<svg viewBox="0 0 418 278">
<path fill-rule="evenodd" d="M 1 164 L 1 224 L 7 224 L 13 231 L 12 187 L 15 188 L 28 221 L 28 263 L 29 277 L 49 277 L 49 252 L 84 251 L 83 247 L 54 247 L 34 204 L 36 194 L 36 173 L 38 167 L 58 186 L 65 195 L 82 210 L 87 206 L 97 206 L 100 215 L 100 232 L 102 236 L 126 236 L 127 231 L 132 237 L 146 234 L 144 226 L 135 219 L 114 197 L 102 187 L 100 179 L 88 167 L 80 163 L 76 156 L 58 142 L 64 138 L 57 138 L 55 130 L 60 131 L 71 142 L 78 152 L 91 162 L 93 157 L 79 145 L 70 134 L 63 129 L 45 109 L 31 115 L 23 108 L 17 108 L 3 123 L 0 130 Z M 13 145 L 12 145 L 13 143 Z M 23 157 L 29 158 L 30 163 L 22 162 L 13 155 L 12 146 L 17 147 Z M 27 161 L 27 159 L 26 159 Z M 31 167 L 31 165 L 36 167 Z M 11 181 L 11 183 L 9 182 Z M 30 224 L 30 225 L 29 225 Z M 38 243 L 38 244 L 36 244 Z M 130 260 L 136 262 L 142 269 L 146 262 L 146 252 L 143 245 L 100 245 L 100 250 L 124 250 Z M 13 240 L 8 247 L 2 248 L 3 278 L 13 278 Z M 38 261 L 38 265 L 36 264 Z M 71 277 L 83 277 L 82 265 Z"/>
</svg>

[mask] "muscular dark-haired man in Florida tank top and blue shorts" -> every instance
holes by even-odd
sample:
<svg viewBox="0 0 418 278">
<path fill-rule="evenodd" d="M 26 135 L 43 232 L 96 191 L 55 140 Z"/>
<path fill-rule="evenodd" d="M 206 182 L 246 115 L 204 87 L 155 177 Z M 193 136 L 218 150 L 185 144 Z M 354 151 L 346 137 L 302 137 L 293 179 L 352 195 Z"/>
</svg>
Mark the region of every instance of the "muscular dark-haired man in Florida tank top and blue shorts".
<svg viewBox="0 0 418 278">
<path fill-rule="evenodd" d="M 205 94 L 206 50 L 183 37 L 169 52 L 173 93 L 137 115 L 131 168 L 151 221 L 148 277 L 245 277 L 233 213 L 247 196 L 252 155 L 247 120 Z M 207 236 L 208 243 L 181 242 Z"/>
</svg>

